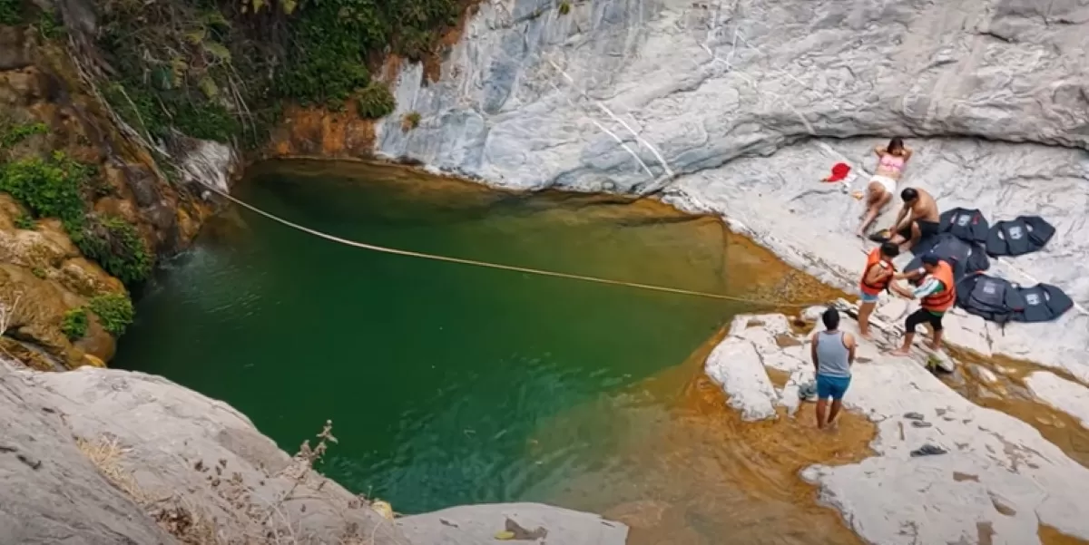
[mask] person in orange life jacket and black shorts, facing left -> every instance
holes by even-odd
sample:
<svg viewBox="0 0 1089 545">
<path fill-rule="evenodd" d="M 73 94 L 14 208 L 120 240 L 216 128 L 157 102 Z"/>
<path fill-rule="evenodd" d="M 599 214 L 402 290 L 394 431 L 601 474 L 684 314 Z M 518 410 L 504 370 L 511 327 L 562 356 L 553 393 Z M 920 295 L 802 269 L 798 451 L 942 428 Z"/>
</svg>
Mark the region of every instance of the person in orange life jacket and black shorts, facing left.
<svg viewBox="0 0 1089 545">
<path fill-rule="evenodd" d="M 953 308 L 956 301 L 956 283 L 953 282 L 953 268 L 932 255 L 922 256 L 922 268 L 917 271 L 897 275 L 904 278 L 923 277 L 914 292 L 897 284 L 892 289 L 909 299 L 919 299 L 920 308 L 911 312 L 904 322 L 904 346 L 890 352 L 892 356 L 907 356 L 915 340 L 915 326 L 929 323 L 934 331 L 934 338 L 928 346 L 934 350 L 942 347 L 942 318 Z"/>
</svg>

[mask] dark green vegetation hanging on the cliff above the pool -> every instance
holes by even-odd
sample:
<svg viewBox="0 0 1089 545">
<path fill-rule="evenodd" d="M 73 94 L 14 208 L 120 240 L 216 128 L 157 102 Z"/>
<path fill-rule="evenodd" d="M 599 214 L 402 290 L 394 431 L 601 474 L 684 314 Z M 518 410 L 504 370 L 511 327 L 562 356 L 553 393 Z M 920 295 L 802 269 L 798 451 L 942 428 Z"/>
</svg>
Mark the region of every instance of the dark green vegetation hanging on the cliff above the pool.
<svg viewBox="0 0 1089 545">
<path fill-rule="evenodd" d="M 0 0 L 0 2 L 11 0 Z M 130 125 L 264 145 L 282 104 L 364 117 L 394 110 L 371 80 L 387 52 L 420 60 L 466 0 L 107 0 L 99 45 L 119 76 L 102 94 Z"/>
</svg>

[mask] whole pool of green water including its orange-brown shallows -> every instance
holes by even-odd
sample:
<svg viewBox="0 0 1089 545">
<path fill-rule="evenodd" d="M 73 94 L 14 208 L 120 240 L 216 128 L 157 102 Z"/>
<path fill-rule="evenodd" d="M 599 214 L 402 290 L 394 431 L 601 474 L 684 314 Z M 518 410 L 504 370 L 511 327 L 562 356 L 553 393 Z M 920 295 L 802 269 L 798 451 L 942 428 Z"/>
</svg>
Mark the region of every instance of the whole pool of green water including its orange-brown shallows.
<svg viewBox="0 0 1089 545">
<path fill-rule="evenodd" d="M 745 297 L 836 295 L 718 220 L 652 201 L 274 166 L 240 196 L 345 238 Z M 696 379 L 715 331 L 758 310 L 369 252 L 241 211 L 138 302 L 114 366 L 224 399 L 290 451 L 331 419 L 323 470 L 401 512 L 544 500 L 624 520 L 637 544 L 851 543 L 795 473 L 859 456 L 868 425 L 742 425 Z"/>
</svg>

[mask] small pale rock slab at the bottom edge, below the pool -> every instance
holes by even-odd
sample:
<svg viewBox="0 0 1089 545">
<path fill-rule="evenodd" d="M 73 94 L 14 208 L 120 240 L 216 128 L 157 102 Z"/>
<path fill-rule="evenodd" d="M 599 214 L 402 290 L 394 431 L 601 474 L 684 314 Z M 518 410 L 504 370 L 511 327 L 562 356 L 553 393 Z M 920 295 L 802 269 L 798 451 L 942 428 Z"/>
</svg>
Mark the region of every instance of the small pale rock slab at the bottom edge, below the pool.
<svg viewBox="0 0 1089 545">
<path fill-rule="evenodd" d="M 624 545 L 627 541 L 625 524 L 604 520 L 597 515 L 540 504 L 451 507 L 397 519 L 397 528 L 413 543 L 421 545 Z M 495 534 L 503 531 L 512 531 L 517 541 L 497 541 Z"/>
</svg>

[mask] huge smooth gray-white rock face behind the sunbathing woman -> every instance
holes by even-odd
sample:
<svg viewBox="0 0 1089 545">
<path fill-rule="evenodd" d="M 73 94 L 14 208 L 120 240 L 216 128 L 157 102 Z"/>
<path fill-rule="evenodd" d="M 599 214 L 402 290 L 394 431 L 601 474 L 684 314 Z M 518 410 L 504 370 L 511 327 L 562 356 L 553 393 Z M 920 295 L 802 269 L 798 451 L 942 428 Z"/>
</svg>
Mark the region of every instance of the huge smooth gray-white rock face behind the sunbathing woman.
<svg viewBox="0 0 1089 545">
<path fill-rule="evenodd" d="M 1087 47 L 1084 0 L 493 1 L 438 83 L 402 66 L 376 150 L 499 186 L 660 191 L 853 287 L 861 205 L 818 179 L 843 160 L 872 169 L 872 146 L 904 136 L 902 184 L 942 208 L 1054 223 L 1048 249 L 995 272 L 1084 309 Z M 1086 363 L 1082 311 L 972 327 L 963 342 L 983 352 Z"/>
</svg>

